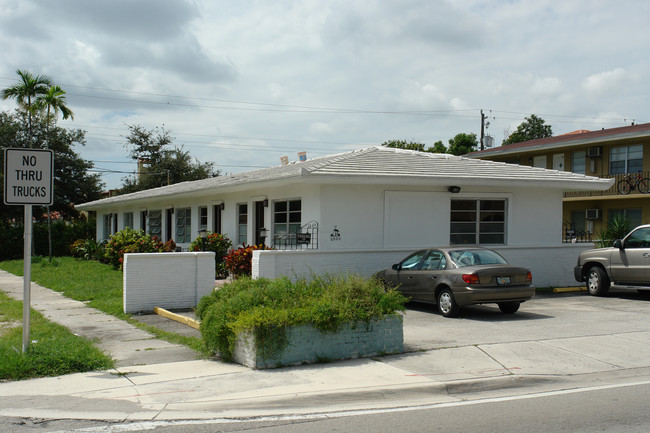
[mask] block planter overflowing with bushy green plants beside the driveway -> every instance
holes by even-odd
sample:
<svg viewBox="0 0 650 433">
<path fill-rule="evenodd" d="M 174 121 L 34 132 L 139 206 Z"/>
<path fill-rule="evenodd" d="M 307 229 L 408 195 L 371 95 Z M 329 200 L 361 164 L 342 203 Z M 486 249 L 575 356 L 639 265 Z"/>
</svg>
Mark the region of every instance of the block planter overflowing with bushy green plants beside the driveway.
<svg viewBox="0 0 650 433">
<path fill-rule="evenodd" d="M 406 298 L 359 276 L 240 278 L 197 308 L 208 351 L 269 368 L 403 351 Z"/>
</svg>

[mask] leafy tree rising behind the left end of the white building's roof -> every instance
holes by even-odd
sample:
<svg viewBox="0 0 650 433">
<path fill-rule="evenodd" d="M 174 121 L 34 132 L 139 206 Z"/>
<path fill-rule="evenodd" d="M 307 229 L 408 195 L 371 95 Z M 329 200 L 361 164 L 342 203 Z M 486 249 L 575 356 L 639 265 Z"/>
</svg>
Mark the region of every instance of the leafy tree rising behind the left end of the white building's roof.
<svg viewBox="0 0 650 433">
<path fill-rule="evenodd" d="M 192 158 L 183 147 L 173 145 L 174 138 L 164 128 L 147 130 L 139 125 L 130 125 L 125 147 L 130 157 L 139 164 L 137 177 L 122 179 L 120 194 L 157 188 L 190 180 L 219 176 L 213 162 L 201 163 Z"/>
</svg>

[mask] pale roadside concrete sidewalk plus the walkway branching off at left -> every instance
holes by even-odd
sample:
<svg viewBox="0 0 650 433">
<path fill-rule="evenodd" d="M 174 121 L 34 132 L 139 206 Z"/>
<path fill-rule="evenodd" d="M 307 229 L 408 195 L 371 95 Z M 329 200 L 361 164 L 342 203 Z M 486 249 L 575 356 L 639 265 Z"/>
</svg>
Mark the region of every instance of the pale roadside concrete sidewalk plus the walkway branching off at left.
<svg viewBox="0 0 650 433">
<path fill-rule="evenodd" d="M 14 285 L 22 287 L 21 279 L 0 273 L 1 290 L 15 291 L 10 289 Z M 73 314 L 76 329 L 89 332 L 93 325 L 80 322 L 101 317 L 81 313 L 77 310 L 87 308 L 83 304 L 48 292 L 35 285 L 32 305 L 54 321 Z M 52 300 L 46 302 L 49 297 Z M 118 325 L 109 319 L 93 331 L 103 347 L 128 343 L 137 356 L 152 352 L 147 361 L 155 362 L 160 354 L 160 362 L 135 365 L 137 356 L 124 356 L 122 366 L 111 371 L 0 383 L 0 416 L 122 421 L 307 414 L 455 402 L 470 393 L 498 393 L 504 388 L 511 392 L 529 385 L 567 388 L 575 386 L 571 382 L 578 377 L 602 383 L 605 377 L 631 371 L 647 376 L 650 370 L 649 330 L 251 370 L 211 360 L 164 362 L 166 350 L 178 348 L 160 342 L 160 349 L 147 351 L 144 348 L 158 343 L 137 328 L 137 338 L 130 340 L 123 331 L 111 342 L 104 324 Z"/>
</svg>

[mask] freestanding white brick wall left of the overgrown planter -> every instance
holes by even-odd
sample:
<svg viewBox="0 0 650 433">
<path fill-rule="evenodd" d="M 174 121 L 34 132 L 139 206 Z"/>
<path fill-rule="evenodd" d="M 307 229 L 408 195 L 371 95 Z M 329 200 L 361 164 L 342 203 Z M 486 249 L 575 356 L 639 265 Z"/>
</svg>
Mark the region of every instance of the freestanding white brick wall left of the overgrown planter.
<svg viewBox="0 0 650 433">
<path fill-rule="evenodd" d="M 213 252 L 124 255 L 124 312 L 193 308 L 214 290 Z"/>
</svg>

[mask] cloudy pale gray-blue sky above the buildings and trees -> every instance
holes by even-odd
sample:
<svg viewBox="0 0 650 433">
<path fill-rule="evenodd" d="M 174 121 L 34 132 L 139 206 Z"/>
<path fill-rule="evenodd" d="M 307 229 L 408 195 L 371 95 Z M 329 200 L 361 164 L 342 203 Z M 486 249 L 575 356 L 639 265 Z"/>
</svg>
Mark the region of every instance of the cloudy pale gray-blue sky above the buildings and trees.
<svg viewBox="0 0 650 433">
<path fill-rule="evenodd" d="M 128 125 L 223 173 L 526 116 L 555 134 L 650 122 L 646 0 L 0 0 L 0 88 L 67 91 L 117 187 Z M 0 101 L 0 110 L 13 110 Z M 122 172 L 122 173 L 120 173 Z"/>
</svg>

